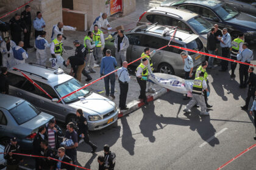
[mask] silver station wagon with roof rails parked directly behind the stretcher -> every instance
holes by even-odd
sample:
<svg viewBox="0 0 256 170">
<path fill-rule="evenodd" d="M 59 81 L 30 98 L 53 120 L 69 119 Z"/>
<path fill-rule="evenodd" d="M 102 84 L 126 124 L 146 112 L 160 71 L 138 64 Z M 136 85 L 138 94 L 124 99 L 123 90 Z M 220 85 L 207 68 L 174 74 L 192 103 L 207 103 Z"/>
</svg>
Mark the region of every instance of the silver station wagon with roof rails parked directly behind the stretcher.
<svg viewBox="0 0 256 170">
<path fill-rule="evenodd" d="M 134 61 L 141 57 L 146 47 L 153 50 L 168 45 L 174 30 L 171 31 L 169 36 L 162 36 L 163 30 L 168 27 L 161 25 L 140 25 L 130 32 L 126 33 L 129 39 L 130 46 L 127 49 L 126 60 L 127 62 Z M 114 46 L 115 36 L 112 39 L 105 41 L 105 47 L 110 49 L 115 56 Z M 204 51 L 204 46 L 199 39 L 198 35 L 194 35 L 183 30 L 177 30 L 176 35 L 171 41 L 171 45 L 185 47 L 188 49 Z M 180 57 L 182 50 L 174 47 L 166 47 L 165 49 L 158 50 L 152 56 L 154 69 L 161 73 L 168 73 L 172 75 L 184 75 L 184 64 Z M 205 57 L 197 53 L 188 53 L 194 60 L 194 67 L 199 66 Z M 140 61 L 133 63 L 133 66 L 138 66 Z"/>
</svg>

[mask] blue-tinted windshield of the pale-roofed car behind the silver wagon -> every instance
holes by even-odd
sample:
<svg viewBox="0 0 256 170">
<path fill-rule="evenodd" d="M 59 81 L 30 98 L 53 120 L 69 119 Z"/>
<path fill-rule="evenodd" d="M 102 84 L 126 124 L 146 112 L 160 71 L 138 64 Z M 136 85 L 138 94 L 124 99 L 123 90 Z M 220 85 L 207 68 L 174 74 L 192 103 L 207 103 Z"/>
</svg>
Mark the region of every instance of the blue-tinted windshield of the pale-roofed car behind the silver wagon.
<svg viewBox="0 0 256 170">
<path fill-rule="evenodd" d="M 212 29 L 212 24 L 201 16 L 191 18 L 188 24 L 199 34 L 206 34 Z"/>
</svg>

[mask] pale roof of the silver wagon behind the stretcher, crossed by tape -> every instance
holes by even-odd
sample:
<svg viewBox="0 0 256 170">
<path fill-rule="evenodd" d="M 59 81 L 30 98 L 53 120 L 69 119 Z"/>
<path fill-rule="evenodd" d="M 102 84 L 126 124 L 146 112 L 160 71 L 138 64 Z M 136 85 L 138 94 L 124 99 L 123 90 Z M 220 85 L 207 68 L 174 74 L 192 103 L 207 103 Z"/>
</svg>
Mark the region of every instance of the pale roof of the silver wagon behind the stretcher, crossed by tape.
<svg viewBox="0 0 256 170">
<path fill-rule="evenodd" d="M 137 31 L 141 27 L 146 27 L 146 28 L 140 31 Z M 171 39 L 171 36 L 173 35 L 174 30 L 171 31 L 171 35 L 162 36 L 163 30 L 165 30 L 166 28 L 171 29 L 171 27 L 166 27 L 163 25 L 141 25 L 141 26 L 138 26 L 136 29 L 133 29 L 131 33 L 146 33 L 149 35 L 154 35 L 154 36 L 158 36 L 159 38 L 164 38 L 169 40 Z M 199 35 L 195 35 L 193 33 L 188 33 L 183 30 L 176 30 L 176 33 L 173 39 L 175 39 L 175 41 L 178 42 L 179 44 L 187 44 L 198 37 Z"/>
</svg>

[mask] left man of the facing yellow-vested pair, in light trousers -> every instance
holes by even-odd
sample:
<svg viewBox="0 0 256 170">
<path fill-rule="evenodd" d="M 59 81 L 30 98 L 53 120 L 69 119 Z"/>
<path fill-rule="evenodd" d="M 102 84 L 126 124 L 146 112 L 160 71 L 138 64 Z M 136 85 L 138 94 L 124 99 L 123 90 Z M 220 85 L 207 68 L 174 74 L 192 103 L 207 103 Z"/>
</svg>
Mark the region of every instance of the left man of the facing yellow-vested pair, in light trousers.
<svg viewBox="0 0 256 170">
<path fill-rule="evenodd" d="M 98 46 L 99 41 L 96 41 L 95 44 L 93 42 L 93 32 L 88 32 L 87 36 L 84 38 L 84 47 L 87 49 L 87 56 L 85 60 L 85 70 L 89 68 L 89 70 L 93 70 L 94 67 L 94 56 L 93 49 L 95 46 Z M 87 72 L 84 70 L 84 73 Z M 84 74 L 83 73 L 83 74 Z"/>
</svg>

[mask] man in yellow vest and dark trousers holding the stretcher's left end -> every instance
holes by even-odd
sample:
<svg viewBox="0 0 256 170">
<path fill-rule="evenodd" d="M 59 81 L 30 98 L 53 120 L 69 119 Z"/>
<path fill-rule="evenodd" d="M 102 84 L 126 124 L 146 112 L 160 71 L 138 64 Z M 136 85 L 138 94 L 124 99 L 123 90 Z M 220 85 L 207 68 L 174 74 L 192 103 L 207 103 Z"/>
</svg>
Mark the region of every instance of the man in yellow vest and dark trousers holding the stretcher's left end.
<svg viewBox="0 0 256 170">
<path fill-rule="evenodd" d="M 138 84 L 140 85 L 140 96 L 139 99 L 143 100 L 145 104 L 148 104 L 146 97 L 146 86 L 148 80 L 148 60 L 143 58 L 142 63 L 136 69 L 136 77 Z"/>
</svg>

